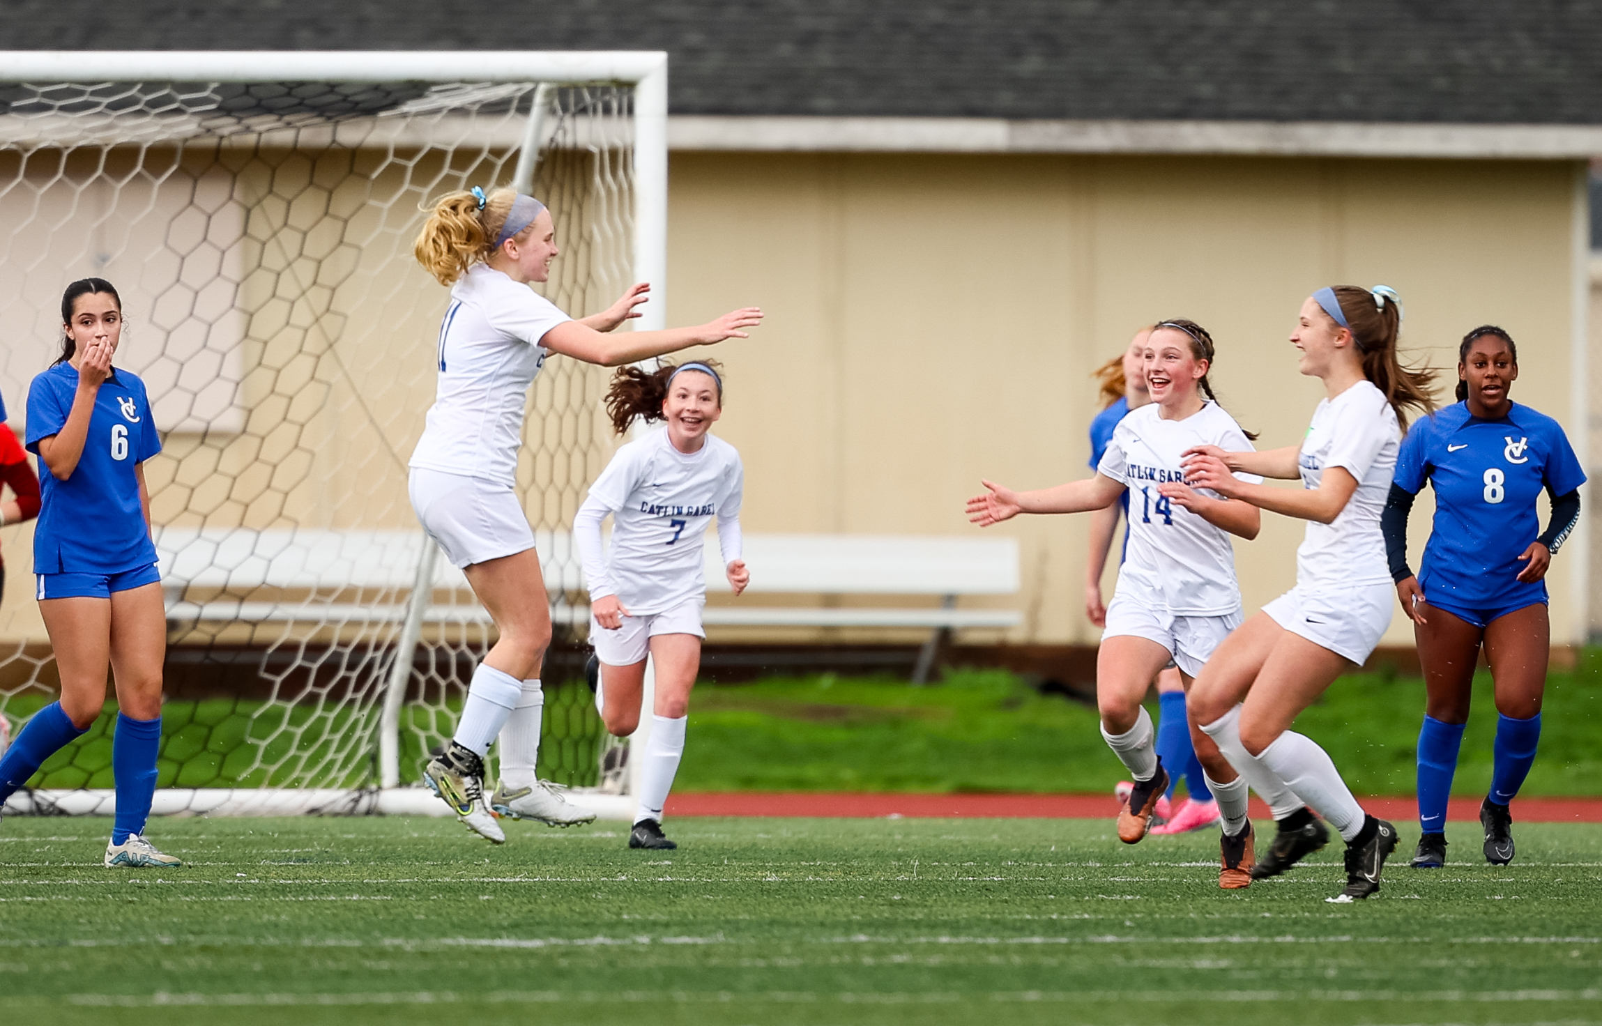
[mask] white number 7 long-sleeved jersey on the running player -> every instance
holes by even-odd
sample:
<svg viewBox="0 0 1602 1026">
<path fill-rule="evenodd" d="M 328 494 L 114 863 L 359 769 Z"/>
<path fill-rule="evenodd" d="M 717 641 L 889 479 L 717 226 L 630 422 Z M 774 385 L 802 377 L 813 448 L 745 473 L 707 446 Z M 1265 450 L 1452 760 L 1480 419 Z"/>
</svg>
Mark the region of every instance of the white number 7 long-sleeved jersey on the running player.
<svg viewBox="0 0 1602 1026">
<path fill-rule="evenodd" d="M 687 456 L 665 427 L 618 448 L 574 520 L 590 599 L 615 594 L 631 615 L 650 616 L 703 597 L 706 525 L 718 517 L 724 565 L 740 559 L 743 488 L 740 453 L 716 435 Z M 602 555 L 607 512 L 612 546 Z"/>
</svg>

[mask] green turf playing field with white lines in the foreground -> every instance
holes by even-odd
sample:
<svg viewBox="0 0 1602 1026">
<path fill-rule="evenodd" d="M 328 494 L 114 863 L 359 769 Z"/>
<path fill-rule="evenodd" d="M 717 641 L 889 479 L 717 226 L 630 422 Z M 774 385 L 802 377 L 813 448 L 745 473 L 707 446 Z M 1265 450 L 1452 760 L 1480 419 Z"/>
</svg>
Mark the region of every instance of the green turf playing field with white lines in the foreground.
<svg viewBox="0 0 1602 1026">
<path fill-rule="evenodd" d="M 1458 828 L 1455 864 L 1352 906 L 1323 901 L 1334 848 L 1226 893 L 1214 837 L 1110 821 L 678 820 L 644 853 L 617 826 L 162 820 L 189 860 L 163 872 L 103 869 L 107 828 L 0 826 L 0 1021 L 1602 1020 L 1602 826 L 1519 826 L 1509 868 Z"/>
</svg>

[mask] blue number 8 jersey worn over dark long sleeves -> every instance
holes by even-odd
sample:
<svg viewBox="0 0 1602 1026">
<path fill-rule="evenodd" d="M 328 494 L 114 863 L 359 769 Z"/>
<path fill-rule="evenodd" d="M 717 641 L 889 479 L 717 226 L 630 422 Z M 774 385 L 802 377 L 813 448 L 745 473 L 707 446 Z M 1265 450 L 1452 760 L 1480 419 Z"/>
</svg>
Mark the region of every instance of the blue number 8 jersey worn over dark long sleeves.
<svg viewBox="0 0 1602 1026">
<path fill-rule="evenodd" d="M 1546 488 L 1568 495 L 1584 471 L 1552 418 L 1512 403 L 1499 421 L 1482 421 L 1459 402 L 1421 418 L 1402 440 L 1395 483 L 1418 495 L 1435 490 L 1435 520 L 1419 586 L 1424 600 L 1459 608 L 1507 608 L 1546 602 L 1546 583 L 1522 583 L 1519 555 L 1541 525 L 1535 501 Z"/>
</svg>

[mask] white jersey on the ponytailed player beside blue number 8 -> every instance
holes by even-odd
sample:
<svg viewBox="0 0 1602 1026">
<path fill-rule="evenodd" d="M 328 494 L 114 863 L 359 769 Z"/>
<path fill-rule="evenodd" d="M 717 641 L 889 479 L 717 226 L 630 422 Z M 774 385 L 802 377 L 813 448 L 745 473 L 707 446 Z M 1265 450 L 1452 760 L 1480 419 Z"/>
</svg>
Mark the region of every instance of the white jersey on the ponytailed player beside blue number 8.
<svg viewBox="0 0 1602 1026">
<path fill-rule="evenodd" d="M 1379 514 L 1391 495 L 1400 447 L 1397 411 L 1371 381 L 1318 400 L 1298 458 L 1302 485 L 1317 488 L 1328 467 L 1342 467 L 1357 479 L 1357 491 L 1334 522 L 1307 522 L 1307 536 L 1296 549 L 1298 586 L 1391 583 Z"/>
</svg>

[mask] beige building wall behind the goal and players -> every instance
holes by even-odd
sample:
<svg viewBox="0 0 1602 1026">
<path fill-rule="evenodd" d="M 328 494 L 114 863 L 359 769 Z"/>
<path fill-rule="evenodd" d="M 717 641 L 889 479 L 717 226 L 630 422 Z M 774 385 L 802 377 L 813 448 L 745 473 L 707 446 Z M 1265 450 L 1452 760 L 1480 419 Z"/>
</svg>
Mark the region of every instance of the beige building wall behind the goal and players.
<svg viewBox="0 0 1602 1026">
<path fill-rule="evenodd" d="M 240 283 L 248 317 L 229 371 L 240 383 L 229 416 L 245 429 L 171 439 L 151 474 L 157 515 L 410 530 L 402 464 L 431 399 L 445 290 L 410 261 L 410 229 L 370 222 L 351 186 L 317 189 L 317 166 L 292 170 L 245 174 L 234 194 L 237 245 L 261 251 L 245 266 L 264 266 Z M 1515 397 L 1573 431 L 1576 173 L 1560 162 L 679 152 L 668 322 L 767 311 L 755 338 L 714 352 L 729 370 L 719 432 L 745 458 L 748 531 L 977 536 L 963 499 L 982 477 L 1028 488 L 1089 474 L 1089 371 L 1160 317 L 1208 327 L 1224 403 L 1261 445 L 1294 445 L 1320 387 L 1298 376 L 1286 335 L 1326 283 L 1395 287 L 1410 355 L 1439 367 L 1467 328 L 1507 327 L 1520 341 Z M 376 182 L 391 187 L 404 192 Z M 394 210 L 415 202 L 402 195 Z M 346 234 L 330 234 L 328 210 L 349 218 Z M 593 402 L 598 387 L 596 373 L 553 363 L 535 408 L 557 392 Z M 6 399 L 24 397 L 8 386 Z M 569 479 L 593 477 L 609 443 L 575 411 L 541 413 L 535 432 L 569 439 L 522 467 L 559 491 L 551 509 L 530 509 L 554 527 L 582 493 Z M 1415 552 L 1427 520 L 1424 499 Z M 1086 519 L 992 530 L 1020 538 L 1024 591 L 982 603 L 1024 610 L 1024 626 L 968 640 L 1094 643 Z M 1264 514 L 1262 535 L 1237 544 L 1248 611 L 1293 583 L 1301 530 Z M 0 544 L 11 557 L 0 635 L 38 640 L 29 528 L 6 528 Z M 1584 627 L 1568 555 L 1551 578 L 1556 640 Z M 1112 583 L 1109 570 L 1109 597 Z M 714 632 L 756 637 L 779 635 Z M 1410 642 L 1400 616 L 1386 640 Z"/>
</svg>

